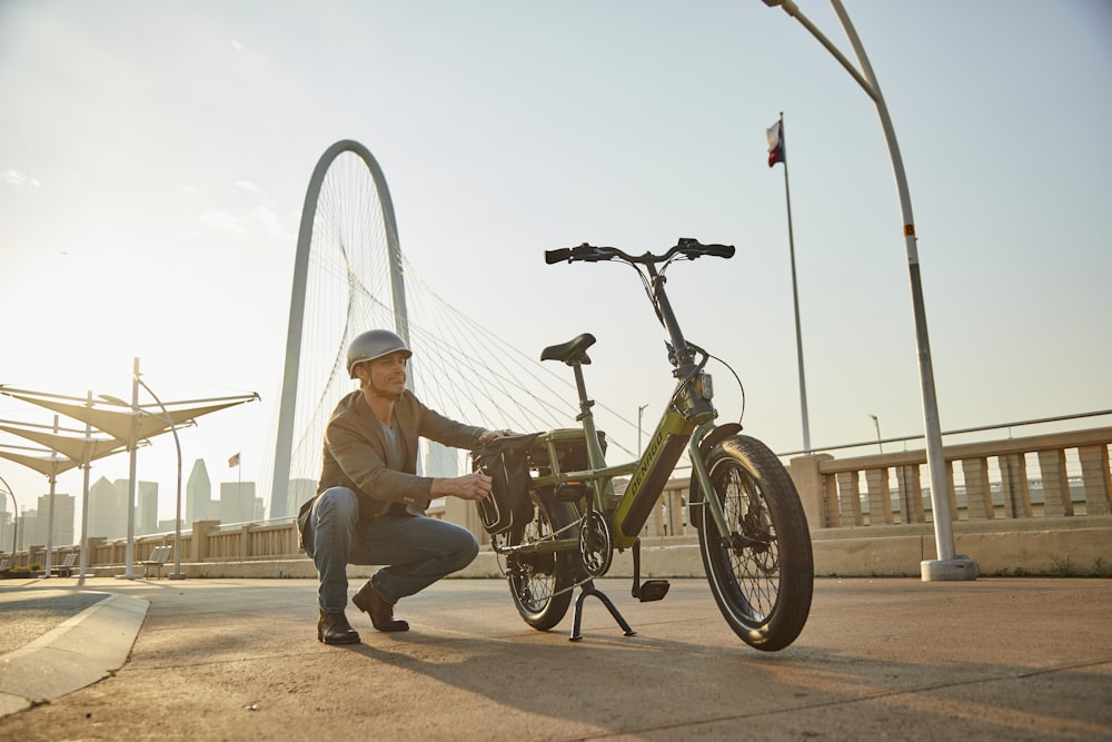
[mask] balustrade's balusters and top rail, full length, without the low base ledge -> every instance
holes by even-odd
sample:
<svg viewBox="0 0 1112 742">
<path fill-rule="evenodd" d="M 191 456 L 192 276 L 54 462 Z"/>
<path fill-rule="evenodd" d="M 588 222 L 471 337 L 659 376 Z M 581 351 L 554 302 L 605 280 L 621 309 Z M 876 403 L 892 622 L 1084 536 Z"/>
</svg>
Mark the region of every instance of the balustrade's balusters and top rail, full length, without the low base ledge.
<svg viewBox="0 0 1112 742">
<path fill-rule="evenodd" d="M 1065 534 L 1090 528 L 1106 535 L 1112 532 L 1110 445 L 1112 427 L 946 446 L 944 486 L 950 494 L 951 517 L 964 534 L 1009 530 L 1030 534 L 1032 528 Z M 885 538 L 905 532 L 920 538 L 932 522 L 933 483 L 924 482 L 929 473 L 922 451 L 846 458 L 800 456 L 792 459 L 790 471 L 816 544 L 844 538 L 846 530 L 855 528 L 860 530 L 857 538 L 867 538 L 870 532 Z M 693 543 L 696 532 L 688 521 L 688 478 L 668 482 L 642 532 L 646 544 Z M 429 514 L 475 530 L 480 543 L 486 543 L 471 511 L 467 503 L 460 506 L 453 501 L 447 507 L 437 503 Z M 173 543 L 172 533 L 140 536 L 136 538 L 136 561 L 146 558 L 155 546 Z M 206 574 L 205 566 L 210 564 L 219 563 L 228 573 L 229 564 L 267 561 L 304 561 L 308 564 L 306 574 L 311 573 L 311 563 L 298 551 L 290 520 L 230 525 L 199 521 L 181 532 L 179 548 L 182 566 L 190 565 L 187 572 L 193 574 Z M 76 550 L 57 548 L 51 561 L 59 564 Z M 89 540 L 87 563 L 93 574 L 115 574 L 126 557 L 125 540 Z M 1103 570 L 1103 557 L 1098 554 L 1092 558 Z M 1108 561 L 1112 568 L 1112 556 Z M 43 562 L 41 546 L 31 546 L 10 560 L 10 564 L 23 567 Z"/>
</svg>

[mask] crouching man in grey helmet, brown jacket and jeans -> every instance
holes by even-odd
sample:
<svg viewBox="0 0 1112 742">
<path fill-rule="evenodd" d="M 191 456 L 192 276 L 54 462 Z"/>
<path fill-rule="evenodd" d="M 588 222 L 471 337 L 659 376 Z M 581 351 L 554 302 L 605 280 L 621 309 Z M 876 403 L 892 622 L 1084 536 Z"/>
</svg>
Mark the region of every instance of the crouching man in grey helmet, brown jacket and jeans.
<svg viewBox="0 0 1112 742">
<path fill-rule="evenodd" d="M 411 355 L 389 330 L 373 329 L 351 342 L 347 370 L 359 388 L 328 421 L 317 494 L 298 513 L 301 546 L 320 575 L 317 639 L 326 644 L 359 641 L 344 613 L 348 564 L 387 565 L 351 602 L 378 631 L 406 631 L 409 624 L 394 617 L 395 604 L 478 555 L 469 531 L 425 509 L 437 497 L 483 499 L 490 477 L 417 476 L 417 439 L 474 449 L 508 432 L 457 423 L 423 405 L 405 388 Z"/>
</svg>

